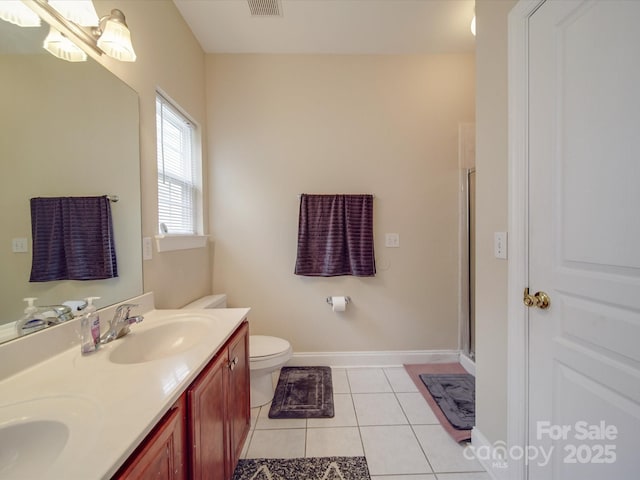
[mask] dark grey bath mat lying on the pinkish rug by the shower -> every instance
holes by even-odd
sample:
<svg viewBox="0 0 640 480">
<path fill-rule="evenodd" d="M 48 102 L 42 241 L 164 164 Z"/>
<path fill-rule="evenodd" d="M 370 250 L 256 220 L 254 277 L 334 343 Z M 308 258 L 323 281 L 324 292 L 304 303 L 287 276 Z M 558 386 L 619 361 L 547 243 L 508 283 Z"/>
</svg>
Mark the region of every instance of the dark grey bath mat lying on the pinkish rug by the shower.
<svg viewBox="0 0 640 480">
<path fill-rule="evenodd" d="M 457 430 L 470 430 L 476 423 L 476 379 L 468 373 L 423 373 L 427 387 L 442 413 Z"/>
</svg>

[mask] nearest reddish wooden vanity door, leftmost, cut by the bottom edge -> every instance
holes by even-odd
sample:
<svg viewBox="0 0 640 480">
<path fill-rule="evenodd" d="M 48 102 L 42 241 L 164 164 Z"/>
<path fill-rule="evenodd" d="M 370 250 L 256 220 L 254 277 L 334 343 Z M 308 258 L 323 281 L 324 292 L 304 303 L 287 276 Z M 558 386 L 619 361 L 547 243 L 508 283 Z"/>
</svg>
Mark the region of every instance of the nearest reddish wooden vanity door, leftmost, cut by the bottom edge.
<svg viewBox="0 0 640 480">
<path fill-rule="evenodd" d="M 183 395 L 114 478 L 186 480 L 185 415 Z"/>
</svg>

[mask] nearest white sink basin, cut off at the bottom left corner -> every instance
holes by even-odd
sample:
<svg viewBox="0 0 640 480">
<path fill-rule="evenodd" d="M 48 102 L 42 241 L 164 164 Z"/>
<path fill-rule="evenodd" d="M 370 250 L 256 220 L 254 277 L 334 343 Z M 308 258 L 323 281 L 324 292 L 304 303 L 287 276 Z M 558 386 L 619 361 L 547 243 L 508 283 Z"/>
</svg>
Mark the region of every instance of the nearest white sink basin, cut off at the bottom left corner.
<svg viewBox="0 0 640 480">
<path fill-rule="evenodd" d="M 89 444 L 81 419 L 91 413 L 95 403 L 72 396 L 0 406 L 0 478 L 39 478 L 70 445 Z"/>
</svg>

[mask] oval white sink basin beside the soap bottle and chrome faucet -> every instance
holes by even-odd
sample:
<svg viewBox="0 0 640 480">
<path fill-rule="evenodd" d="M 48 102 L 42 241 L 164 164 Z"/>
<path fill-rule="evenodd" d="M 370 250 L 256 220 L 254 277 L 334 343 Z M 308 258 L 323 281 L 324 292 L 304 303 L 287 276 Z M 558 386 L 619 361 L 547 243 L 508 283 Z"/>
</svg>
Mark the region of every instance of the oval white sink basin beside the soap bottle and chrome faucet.
<svg viewBox="0 0 640 480">
<path fill-rule="evenodd" d="M 134 331 L 116 340 L 109 355 L 114 363 L 145 363 L 183 353 L 198 345 L 209 331 L 203 321 L 179 319 L 147 330 Z"/>
</svg>

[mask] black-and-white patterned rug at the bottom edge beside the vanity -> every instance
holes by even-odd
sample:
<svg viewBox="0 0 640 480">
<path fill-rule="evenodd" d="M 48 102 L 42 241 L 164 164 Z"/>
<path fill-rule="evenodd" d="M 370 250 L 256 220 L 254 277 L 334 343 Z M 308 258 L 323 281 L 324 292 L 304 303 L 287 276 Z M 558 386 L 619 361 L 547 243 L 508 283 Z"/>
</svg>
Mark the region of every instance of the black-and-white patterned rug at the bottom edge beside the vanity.
<svg viewBox="0 0 640 480">
<path fill-rule="evenodd" d="M 364 457 L 241 459 L 233 480 L 370 480 Z"/>
</svg>

